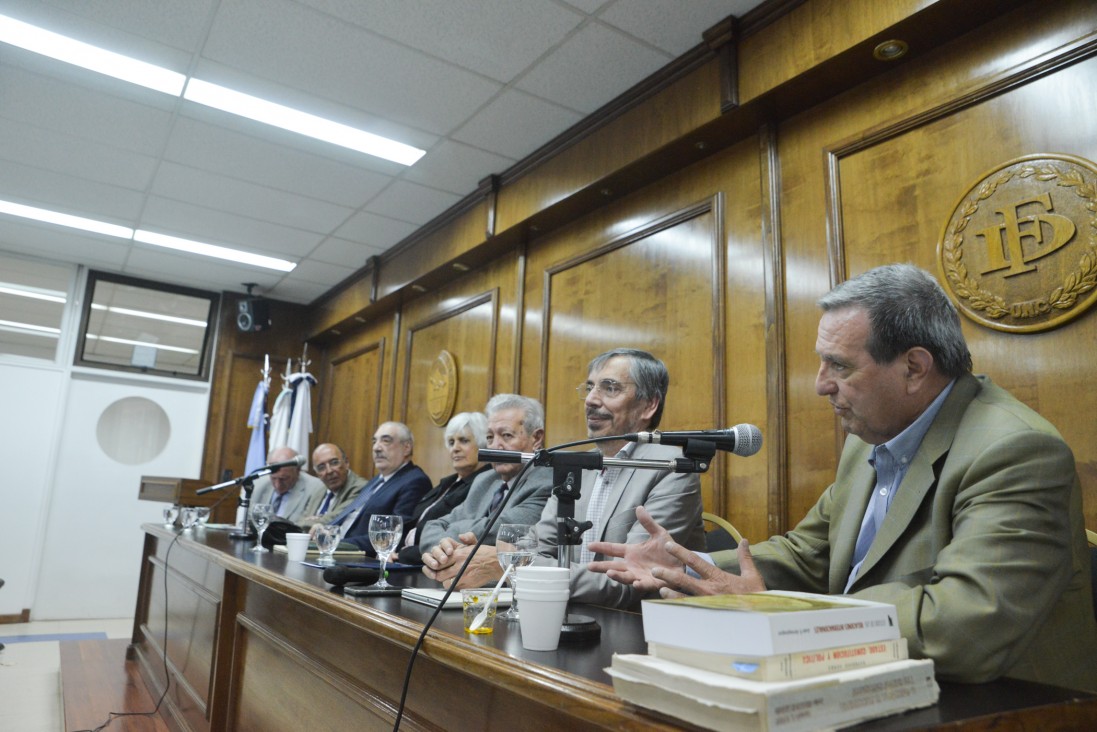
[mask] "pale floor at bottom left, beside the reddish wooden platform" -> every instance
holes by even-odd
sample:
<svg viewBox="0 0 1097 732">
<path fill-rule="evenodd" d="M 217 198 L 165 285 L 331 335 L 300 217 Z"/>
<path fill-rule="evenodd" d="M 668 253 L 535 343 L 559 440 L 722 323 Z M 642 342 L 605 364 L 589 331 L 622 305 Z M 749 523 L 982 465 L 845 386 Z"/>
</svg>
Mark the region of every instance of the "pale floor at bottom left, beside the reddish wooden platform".
<svg viewBox="0 0 1097 732">
<path fill-rule="evenodd" d="M 132 633 L 131 619 L 0 624 L 0 642 L 5 645 L 0 651 L 0 730 L 64 732 L 60 640 Z"/>
</svg>

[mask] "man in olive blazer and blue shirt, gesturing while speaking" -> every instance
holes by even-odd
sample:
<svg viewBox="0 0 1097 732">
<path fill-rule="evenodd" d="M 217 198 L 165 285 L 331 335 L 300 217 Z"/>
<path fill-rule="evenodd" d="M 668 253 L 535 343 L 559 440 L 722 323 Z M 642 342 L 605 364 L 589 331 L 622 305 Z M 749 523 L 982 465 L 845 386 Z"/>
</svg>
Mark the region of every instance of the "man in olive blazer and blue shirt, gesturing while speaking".
<svg viewBox="0 0 1097 732">
<path fill-rule="evenodd" d="M 815 388 L 849 433 L 838 473 L 792 531 L 717 552 L 595 544 L 592 570 L 664 596 L 795 589 L 898 609 L 941 678 L 1097 689 L 1097 628 L 1074 455 L 1028 406 L 971 373 L 932 275 L 870 270 L 819 300 Z"/>
</svg>

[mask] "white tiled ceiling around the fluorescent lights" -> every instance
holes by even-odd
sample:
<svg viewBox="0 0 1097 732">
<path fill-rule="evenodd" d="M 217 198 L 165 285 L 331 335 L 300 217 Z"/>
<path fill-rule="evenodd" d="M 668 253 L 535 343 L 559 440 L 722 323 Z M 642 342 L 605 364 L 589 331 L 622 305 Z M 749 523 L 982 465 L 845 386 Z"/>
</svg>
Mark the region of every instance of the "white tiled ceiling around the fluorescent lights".
<svg viewBox="0 0 1097 732">
<path fill-rule="evenodd" d="M 0 0 L 0 13 L 425 148 L 405 168 L 0 44 L 0 250 L 308 303 L 760 0 Z"/>
</svg>

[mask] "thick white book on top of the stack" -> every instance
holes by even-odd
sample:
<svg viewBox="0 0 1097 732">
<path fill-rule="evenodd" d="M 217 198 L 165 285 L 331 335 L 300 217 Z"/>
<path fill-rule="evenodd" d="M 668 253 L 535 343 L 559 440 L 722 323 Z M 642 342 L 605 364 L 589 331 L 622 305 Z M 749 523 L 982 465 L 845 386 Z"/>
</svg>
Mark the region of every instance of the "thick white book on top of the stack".
<svg viewBox="0 0 1097 732">
<path fill-rule="evenodd" d="M 770 590 L 644 600 L 644 640 L 694 651 L 770 656 L 890 641 L 894 605 Z"/>
</svg>

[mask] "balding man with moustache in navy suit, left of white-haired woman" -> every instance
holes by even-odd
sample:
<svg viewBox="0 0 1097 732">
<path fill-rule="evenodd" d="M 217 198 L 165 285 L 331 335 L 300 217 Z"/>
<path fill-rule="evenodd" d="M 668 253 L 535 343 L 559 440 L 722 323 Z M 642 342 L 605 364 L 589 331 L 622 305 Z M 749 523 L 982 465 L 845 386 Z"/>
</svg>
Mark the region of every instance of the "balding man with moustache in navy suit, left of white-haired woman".
<svg viewBox="0 0 1097 732">
<path fill-rule="evenodd" d="M 416 504 L 430 491 L 430 478 L 411 462 L 415 440 L 408 426 L 386 421 L 373 433 L 373 465 L 377 475 L 330 522 L 346 527 L 342 540 L 372 551 L 370 517 L 396 514 L 410 522 Z"/>
</svg>

